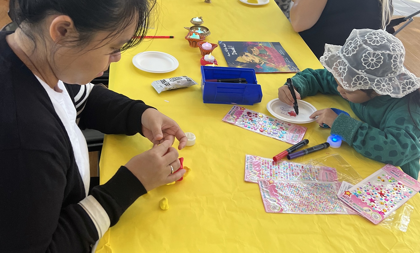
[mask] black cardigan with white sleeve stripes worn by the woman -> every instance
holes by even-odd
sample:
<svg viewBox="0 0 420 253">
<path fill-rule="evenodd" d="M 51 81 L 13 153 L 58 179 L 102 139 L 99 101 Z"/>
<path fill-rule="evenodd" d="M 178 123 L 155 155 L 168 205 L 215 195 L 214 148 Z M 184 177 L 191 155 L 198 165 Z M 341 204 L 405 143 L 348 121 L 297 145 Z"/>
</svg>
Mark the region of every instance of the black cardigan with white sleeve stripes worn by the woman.
<svg viewBox="0 0 420 253">
<path fill-rule="evenodd" d="M 99 238 L 78 204 L 86 196 L 73 149 L 47 92 L 0 32 L 0 252 L 89 252 Z M 79 85 L 65 84 L 74 101 Z M 142 101 L 94 86 L 79 126 L 108 134 L 141 133 Z M 78 108 L 80 111 L 81 108 Z M 90 193 L 113 226 L 141 195 L 121 166 Z"/>
</svg>

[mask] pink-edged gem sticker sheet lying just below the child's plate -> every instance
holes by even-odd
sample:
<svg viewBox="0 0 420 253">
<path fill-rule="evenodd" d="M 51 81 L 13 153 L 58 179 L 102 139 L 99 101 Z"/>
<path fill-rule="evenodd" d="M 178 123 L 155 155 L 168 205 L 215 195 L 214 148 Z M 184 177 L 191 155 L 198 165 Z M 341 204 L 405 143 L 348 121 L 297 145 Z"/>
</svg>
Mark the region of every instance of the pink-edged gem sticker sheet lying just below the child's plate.
<svg viewBox="0 0 420 253">
<path fill-rule="evenodd" d="M 232 107 L 222 121 L 291 144 L 302 141 L 307 129 L 237 105 Z"/>
</svg>

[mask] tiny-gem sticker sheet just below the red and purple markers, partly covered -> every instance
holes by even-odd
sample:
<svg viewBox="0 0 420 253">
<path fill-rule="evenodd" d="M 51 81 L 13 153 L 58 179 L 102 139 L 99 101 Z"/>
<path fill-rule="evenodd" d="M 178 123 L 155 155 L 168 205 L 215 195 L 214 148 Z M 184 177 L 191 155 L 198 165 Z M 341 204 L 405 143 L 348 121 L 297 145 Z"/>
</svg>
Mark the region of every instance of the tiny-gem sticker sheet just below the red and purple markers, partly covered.
<svg viewBox="0 0 420 253">
<path fill-rule="evenodd" d="M 274 162 L 260 156 L 245 156 L 245 181 L 257 183 L 260 179 L 283 181 L 336 182 L 337 171 L 330 167 L 313 167 L 295 162 Z"/>
</svg>

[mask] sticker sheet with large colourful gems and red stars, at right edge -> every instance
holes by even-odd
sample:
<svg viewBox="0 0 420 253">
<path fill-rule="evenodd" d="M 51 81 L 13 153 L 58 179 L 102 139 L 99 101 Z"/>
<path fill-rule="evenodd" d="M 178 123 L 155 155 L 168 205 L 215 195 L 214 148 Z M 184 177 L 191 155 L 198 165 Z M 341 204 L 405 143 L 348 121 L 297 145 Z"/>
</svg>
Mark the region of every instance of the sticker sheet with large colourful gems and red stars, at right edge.
<svg viewBox="0 0 420 253">
<path fill-rule="evenodd" d="M 339 194 L 339 198 L 359 214 L 378 224 L 419 190 L 420 182 L 387 164 Z"/>
</svg>

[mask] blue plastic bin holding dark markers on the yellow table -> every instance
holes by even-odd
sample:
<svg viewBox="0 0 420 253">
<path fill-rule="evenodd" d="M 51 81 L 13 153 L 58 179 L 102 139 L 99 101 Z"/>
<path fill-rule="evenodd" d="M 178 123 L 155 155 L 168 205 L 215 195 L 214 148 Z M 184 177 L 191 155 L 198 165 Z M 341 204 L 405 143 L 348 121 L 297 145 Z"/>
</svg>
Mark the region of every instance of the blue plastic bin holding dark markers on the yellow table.
<svg viewBox="0 0 420 253">
<path fill-rule="evenodd" d="M 209 79 L 245 78 L 248 83 L 206 82 Z M 261 86 L 252 68 L 201 66 L 203 102 L 211 104 L 246 104 L 261 102 Z"/>
</svg>

